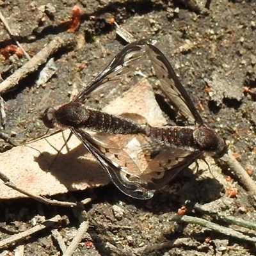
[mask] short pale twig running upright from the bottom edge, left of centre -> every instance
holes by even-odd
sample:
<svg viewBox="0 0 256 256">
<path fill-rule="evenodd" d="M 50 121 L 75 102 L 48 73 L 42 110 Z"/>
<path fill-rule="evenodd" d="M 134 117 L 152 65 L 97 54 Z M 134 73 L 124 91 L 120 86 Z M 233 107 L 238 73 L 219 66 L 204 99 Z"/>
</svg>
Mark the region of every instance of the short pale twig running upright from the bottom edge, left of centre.
<svg viewBox="0 0 256 256">
<path fill-rule="evenodd" d="M 87 230 L 88 230 L 89 221 L 88 221 L 86 211 L 83 210 L 83 211 L 79 212 L 78 218 L 79 218 L 79 221 L 81 222 L 80 227 L 78 228 L 77 234 L 74 237 L 74 239 L 72 240 L 72 242 L 69 244 L 67 250 L 65 251 L 65 253 L 63 253 L 63 256 L 73 255 L 74 250 L 76 250 L 77 246 L 83 239 L 84 233 L 87 232 Z"/>
</svg>

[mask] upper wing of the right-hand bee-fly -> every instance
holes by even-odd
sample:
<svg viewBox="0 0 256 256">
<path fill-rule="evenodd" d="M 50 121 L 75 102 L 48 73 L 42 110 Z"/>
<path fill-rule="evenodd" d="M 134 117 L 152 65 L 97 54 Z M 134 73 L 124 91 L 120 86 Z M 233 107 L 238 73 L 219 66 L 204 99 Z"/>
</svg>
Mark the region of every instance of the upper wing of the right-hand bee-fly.
<svg viewBox="0 0 256 256">
<path fill-rule="evenodd" d="M 152 44 L 147 44 L 145 48 L 148 58 L 156 71 L 156 76 L 161 83 L 163 93 L 168 97 L 175 108 L 202 125 L 202 117 L 199 115 L 193 102 L 189 98 L 188 93 L 180 83 L 170 62 L 166 59 L 163 52 Z"/>
</svg>

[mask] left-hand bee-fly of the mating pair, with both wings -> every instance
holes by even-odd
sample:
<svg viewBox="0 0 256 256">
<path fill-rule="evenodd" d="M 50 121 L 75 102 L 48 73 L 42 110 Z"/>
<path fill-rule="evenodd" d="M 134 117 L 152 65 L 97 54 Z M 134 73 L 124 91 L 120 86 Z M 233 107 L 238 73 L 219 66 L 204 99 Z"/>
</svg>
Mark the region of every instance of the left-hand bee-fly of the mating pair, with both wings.
<svg viewBox="0 0 256 256">
<path fill-rule="evenodd" d="M 124 75 L 145 57 L 144 42 L 129 44 L 120 51 L 102 72 L 89 83 L 74 100 L 58 109 L 47 108 L 40 116 L 48 128 L 68 127 L 84 147 L 92 153 L 97 162 L 122 192 L 138 199 L 148 199 L 154 194 L 141 186 L 141 170 L 122 148 L 100 134 L 138 134 L 143 133 L 141 125 L 122 116 L 109 115 L 84 106 L 86 98 L 92 93 L 109 86 L 118 85 Z M 89 134 L 86 129 L 99 132 Z M 115 157 L 112 161 L 108 156 Z M 129 177 L 129 178 L 128 178 Z"/>
</svg>

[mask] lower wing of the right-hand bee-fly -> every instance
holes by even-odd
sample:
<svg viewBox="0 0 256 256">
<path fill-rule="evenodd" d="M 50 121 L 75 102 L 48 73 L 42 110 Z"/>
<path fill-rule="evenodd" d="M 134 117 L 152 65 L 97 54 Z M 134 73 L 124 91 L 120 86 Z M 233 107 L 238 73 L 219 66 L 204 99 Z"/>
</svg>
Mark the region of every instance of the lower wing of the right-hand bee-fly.
<svg viewBox="0 0 256 256">
<path fill-rule="evenodd" d="M 168 148 L 157 155 L 141 174 L 143 185 L 147 189 L 159 189 L 170 182 L 179 172 L 187 168 L 204 152 Z"/>
</svg>

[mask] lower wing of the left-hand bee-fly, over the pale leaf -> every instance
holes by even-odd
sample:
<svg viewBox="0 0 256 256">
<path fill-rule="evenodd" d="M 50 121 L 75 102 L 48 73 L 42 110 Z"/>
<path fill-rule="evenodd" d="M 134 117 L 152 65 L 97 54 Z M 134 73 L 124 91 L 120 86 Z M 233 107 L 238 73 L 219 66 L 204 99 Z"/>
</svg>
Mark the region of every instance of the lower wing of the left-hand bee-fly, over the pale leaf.
<svg viewBox="0 0 256 256">
<path fill-rule="evenodd" d="M 70 129 L 83 142 L 84 147 L 95 157 L 120 191 L 137 199 L 152 198 L 153 191 L 141 186 L 140 169 L 114 141 L 99 134 L 92 136 L 81 129 L 72 127 Z"/>
</svg>

